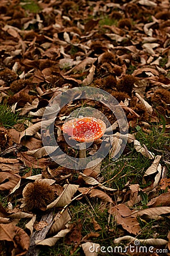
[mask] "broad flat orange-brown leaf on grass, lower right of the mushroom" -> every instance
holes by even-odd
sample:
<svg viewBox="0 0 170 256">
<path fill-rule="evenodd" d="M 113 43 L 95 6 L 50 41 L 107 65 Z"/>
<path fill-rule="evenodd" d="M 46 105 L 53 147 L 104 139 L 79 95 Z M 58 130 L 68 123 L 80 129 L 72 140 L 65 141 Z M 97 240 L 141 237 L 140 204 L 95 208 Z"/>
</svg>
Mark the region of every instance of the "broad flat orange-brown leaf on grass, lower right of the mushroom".
<svg viewBox="0 0 170 256">
<path fill-rule="evenodd" d="M 111 213 L 114 216 L 117 224 L 120 224 L 130 234 L 136 235 L 141 231 L 137 218 L 135 217 L 134 214 L 130 216 L 132 212 L 128 207 L 126 207 L 126 205 L 119 204 L 115 207 L 112 207 L 109 210 L 109 213 Z"/>
</svg>

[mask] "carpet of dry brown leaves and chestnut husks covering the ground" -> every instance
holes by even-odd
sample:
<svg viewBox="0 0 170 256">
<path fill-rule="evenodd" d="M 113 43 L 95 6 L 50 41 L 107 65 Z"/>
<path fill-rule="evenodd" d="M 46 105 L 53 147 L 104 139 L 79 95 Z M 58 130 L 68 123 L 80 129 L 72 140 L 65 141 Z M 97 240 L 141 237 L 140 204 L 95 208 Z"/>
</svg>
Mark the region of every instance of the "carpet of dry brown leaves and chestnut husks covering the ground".
<svg viewBox="0 0 170 256">
<path fill-rule="evenodd" d="M 150 220 L 157 227 L 159 220 L 169 226 L 170 179 L 169 171 L 164 171 L 170 162 L 169 1 L 48 0 L 34 1 L 30 9 L 27 1 L 3 0 L 0 10 L 0 102 L 14 114 L 14 121 L 12 114 L 10 120 L 5 119 L 0 109 L 1 253 L 38 255 L 40 245 L 55 246 L 65 237 L 71 245 L 67 255 L 100 255 L 103 234 L 108 246 L 138 240 L 169 249 L 169 229 L 164 239 L 158 232 L 143 233 Z M 79 100 L 81 92 L 55 119 L 57 142 L 77 157 L 61 127 L 75 108 L 91 106 L 111 122 L 107 129 L 113 131 L 109 163 L 99 158 L 93 167 L 88 168 L 89 163 L 85 170 L 71 170 L 57 166 L 42 146 L 44 110 L 61 92 L 79 86 L 103 89 L 122 106 L 129 125 L 123 166 L 111 161 L 123 143 L 116 118 L 99 102 Z M 152 135 L 152 127 L 158 135 Z M 152 135 L 152 147 L 140 133 L 146 138 Z M 159 136 L 164 141 L 156 148 Z M 94 154 L 100 143 L 92 144 L 87 154 Z M 54 145 L 48 148 L 48 152 L 55 150 Z M 138 159 L 143 159 L 141 179 L 135 166 Z M 108 168 L 112 174 L 106 178 Z M 124 184 L 119 181 L 123 178 Z M 78 203 L 91 212 L 87 222 L 82 217 L 85 233 L 83 220 L 79 217 L 76 222 L 73 210 Z M 100 214 L 107 214 L 104 225 Z M 19 226 L 23 221 L 24 226 Z M 98 251 L 90 253 L 90 246 Z"/>
</svg>

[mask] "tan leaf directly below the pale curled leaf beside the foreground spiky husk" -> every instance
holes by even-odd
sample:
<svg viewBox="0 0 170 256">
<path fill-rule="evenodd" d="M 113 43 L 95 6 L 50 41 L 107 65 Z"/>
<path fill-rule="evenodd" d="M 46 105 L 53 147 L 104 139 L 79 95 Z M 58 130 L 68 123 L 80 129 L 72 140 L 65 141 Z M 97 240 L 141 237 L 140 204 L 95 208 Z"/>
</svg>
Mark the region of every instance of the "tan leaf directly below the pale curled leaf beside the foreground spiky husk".
<svg viewBox="0 0 170 256">
<path fill-rule="evenodd" d="M 71 217 L 67 209 L 62 214 L 58 212 L 54 217 L 53 225 L 49 230 L 49 234 L 58 233 L 59 230 L 63 229 L 67 224 L 67 222 L 69 222 L 70 220 L 71 220 Z"/>
</svg>

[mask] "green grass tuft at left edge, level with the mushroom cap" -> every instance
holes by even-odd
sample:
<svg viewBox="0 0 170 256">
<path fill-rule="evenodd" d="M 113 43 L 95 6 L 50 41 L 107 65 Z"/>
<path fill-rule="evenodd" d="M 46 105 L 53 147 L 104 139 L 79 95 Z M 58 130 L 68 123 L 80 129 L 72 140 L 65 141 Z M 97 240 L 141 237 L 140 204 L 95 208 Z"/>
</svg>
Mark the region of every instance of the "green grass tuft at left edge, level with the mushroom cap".
<svg viewBox="0 0 170 256">
<path fill-rule="evenodd" d="M 19 113 L 13 113 L 11 108 L 6 105 L 0 105 L 0 125 L 4 127 L 12 127 L 19 119 Z"/>
</svg>

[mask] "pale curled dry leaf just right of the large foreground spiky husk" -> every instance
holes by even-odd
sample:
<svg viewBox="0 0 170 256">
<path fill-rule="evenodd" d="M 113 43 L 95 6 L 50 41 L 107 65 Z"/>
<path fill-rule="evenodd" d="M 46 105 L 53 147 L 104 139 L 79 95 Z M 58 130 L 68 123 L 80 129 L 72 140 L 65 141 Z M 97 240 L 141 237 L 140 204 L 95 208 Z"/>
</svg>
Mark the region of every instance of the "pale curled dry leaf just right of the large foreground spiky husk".
<svg viewBox="0 0 170 256">
<path fill-rule="evenodd" d="M 74 193 L 77 191 L 79 185 L 74 184 L 65 184 L 64 191 L 61 193 L 60 196 L 56 200 L 54 200 L 52 203 L 47 205 L 46 209 L 51 209 L 53 207 L 65 207 L 65 205 L 69 204 L 71 202 L 71 198 L 73 197 Z"/>
</svg>

